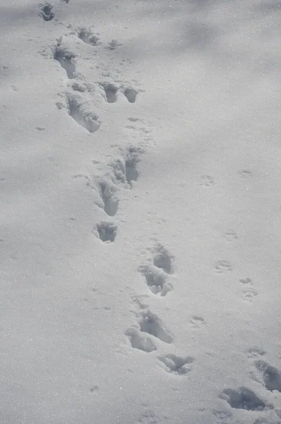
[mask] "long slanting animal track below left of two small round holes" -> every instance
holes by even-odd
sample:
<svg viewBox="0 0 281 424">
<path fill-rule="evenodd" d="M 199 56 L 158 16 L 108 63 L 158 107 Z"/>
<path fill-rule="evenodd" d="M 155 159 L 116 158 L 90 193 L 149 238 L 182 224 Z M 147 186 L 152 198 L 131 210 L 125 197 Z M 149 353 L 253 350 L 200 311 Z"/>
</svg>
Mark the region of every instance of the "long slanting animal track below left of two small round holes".
<svg viewBox="0 0 281 424">
<path fill-rule="evenodd" d="M 98 116 L 93 114 L 91 110 L 88 110 L 86 103 L 78 95 L 67 95 L 67 110 L 69 116 L 88 132 L 93 133 L 98 131 L 101 125 Z"/>
</svg>

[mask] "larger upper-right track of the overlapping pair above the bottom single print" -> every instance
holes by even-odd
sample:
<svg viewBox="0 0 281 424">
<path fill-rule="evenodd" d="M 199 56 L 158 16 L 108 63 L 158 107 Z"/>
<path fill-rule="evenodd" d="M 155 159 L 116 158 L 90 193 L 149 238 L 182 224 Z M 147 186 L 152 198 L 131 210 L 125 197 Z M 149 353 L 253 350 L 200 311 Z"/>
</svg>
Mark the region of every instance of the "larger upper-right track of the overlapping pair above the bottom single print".
<svg viewBox="0 0 281 424">
<path fill-rule="evenodd" d="M 152 314 L 149 310 L 142 311 L 139 319 L 139 329 L 142 333 L 151 334 L 151 336 L 159 338 L 164 343 L 173 341 L 173 336 L 165 329 L 159 317 Z"/>
</svg>

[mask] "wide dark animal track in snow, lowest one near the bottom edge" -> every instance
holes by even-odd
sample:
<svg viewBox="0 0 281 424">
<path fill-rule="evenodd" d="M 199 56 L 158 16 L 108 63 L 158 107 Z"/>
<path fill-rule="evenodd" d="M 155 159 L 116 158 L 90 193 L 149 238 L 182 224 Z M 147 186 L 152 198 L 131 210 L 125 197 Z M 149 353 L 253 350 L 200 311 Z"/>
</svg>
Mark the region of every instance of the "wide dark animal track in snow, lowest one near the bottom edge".
<svg viewBox="0 0 281 424">
<path fill-rule="evenodd" d="M 240 387 L 238 390 L 224 389 L 219 397 L 227 401 L 231 408 L 246 409 L 246 411 L 264 411 L 273 408 L 246 387 Z"/>
</svg>

